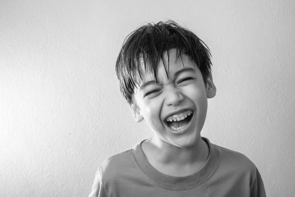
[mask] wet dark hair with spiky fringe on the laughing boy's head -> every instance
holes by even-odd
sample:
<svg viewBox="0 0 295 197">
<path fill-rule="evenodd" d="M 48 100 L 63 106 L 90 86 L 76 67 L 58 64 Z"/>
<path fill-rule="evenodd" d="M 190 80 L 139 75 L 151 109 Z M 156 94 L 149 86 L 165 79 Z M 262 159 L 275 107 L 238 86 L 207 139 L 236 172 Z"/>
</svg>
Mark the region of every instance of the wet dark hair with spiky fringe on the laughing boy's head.
<svg viewBox="0 0 295 197">
<path fill-rule="evenodd" d="M 129 104 L 136 104 L 133 96 L 138 82 L 135 76 L 139 74 L 142 78 L 141 63 L 157 81 L 157 68 L 160 59 L 164 60 L 163 52 L 168 52 L 169 61 L 169 49 L 172 48 L 177 49 L 177 59 L 181 53 L 185 53 L 196 63 L 206 83 L 211 70 L 211 54 L 207 45 L 196 34 L 174 21 L 148 23 L 125 38 L 116 63 L 120 92 Z"/>
</svg>

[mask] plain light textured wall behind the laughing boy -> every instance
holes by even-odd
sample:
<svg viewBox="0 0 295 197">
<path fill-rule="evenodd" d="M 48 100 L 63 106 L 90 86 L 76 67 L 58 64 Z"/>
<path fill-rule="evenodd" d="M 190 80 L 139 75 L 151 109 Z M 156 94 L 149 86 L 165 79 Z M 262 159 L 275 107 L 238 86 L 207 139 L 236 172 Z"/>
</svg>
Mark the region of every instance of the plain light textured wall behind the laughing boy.
<svg viewBox="0 0 295 197">
<path fill-rule="evenodd" d="M 212 52 L 202 135 L 248 156 L 268 197 L 295 194 L 294 0 L 1 0 L 1 197 L 87 196 L 101 162 L 151 134 L 115 62 L 128 33 L 168 18 Z"/>
</svg>

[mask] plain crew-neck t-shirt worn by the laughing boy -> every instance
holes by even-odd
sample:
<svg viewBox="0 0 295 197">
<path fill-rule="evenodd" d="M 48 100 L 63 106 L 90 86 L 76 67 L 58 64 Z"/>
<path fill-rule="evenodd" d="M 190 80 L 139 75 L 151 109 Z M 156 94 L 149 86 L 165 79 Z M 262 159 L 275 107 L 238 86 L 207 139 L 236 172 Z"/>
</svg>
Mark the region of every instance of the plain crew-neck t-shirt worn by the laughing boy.
<svg viewBox="0 0 295 197">
<path fill-rule="evenodd" d="M 99 165 L 89 197 L 266 197 L 251 160 L 202 139 L 209 155 L 196 173 L 176 177 L 157 171 L 141 148 L 145 139 Z"/>
</svg>

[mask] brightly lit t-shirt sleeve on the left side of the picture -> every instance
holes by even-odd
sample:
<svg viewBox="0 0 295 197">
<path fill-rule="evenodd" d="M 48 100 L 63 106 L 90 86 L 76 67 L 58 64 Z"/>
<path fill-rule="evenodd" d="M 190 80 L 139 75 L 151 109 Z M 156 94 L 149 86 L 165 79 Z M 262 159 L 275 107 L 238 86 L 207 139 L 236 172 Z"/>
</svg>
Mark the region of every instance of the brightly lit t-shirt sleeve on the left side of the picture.
<svg viewBox="0 0 295 197">
<path fill-rule="evenodd" d="M 95 179 L 89 197 L 109 197 L 102 182 L 101 166 L 98 167 L 98 170 L 95 173 Z"/>
</svg>

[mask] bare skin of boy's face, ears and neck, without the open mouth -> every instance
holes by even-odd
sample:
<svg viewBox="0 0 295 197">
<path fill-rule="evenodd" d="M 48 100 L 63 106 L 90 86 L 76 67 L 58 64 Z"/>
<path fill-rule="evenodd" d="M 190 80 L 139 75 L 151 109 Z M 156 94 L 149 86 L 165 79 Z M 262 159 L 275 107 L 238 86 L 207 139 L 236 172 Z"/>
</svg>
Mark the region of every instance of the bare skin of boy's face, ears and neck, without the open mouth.
<svg viewBox="0 0 295 197">
<path fill-rule="evenodd" d="M 154 132 L 142 143 L 148 162 L 164 174 L 188 176 L 197 172 L 207 161 L 209 150 L 200 132 L 206 119 L 207 99 L 215 96 L 216 87 L 211 74 L 206 80 L 207 84 L 204 83 L 201 71 L 188 56 L 183 54 L 182 61 L 178 58 L 176 62 L 177 50 L 173 48 L 169 52 L 169 78 L 164 69 L 165 65 L 168 70 L 168 58 L 164 54 L 164 64 L 160 60 L 157 71 L 158 84 L 135 89 L 137 106 L 131 104 L 130 108 L 134 119 L 137 122 L 145 119 Z M 193 70 L 186 70 L 174 78 L 175 73 L 184 68 Z M 143 80 L 138 77 L 141 87 L 154 80 L 144 69 L 142 73 Z M 167 117 L 187 109 L 193 111 L 189 123 L 182 130 L 169 128 L 165 123 Z"/>
</svg>

